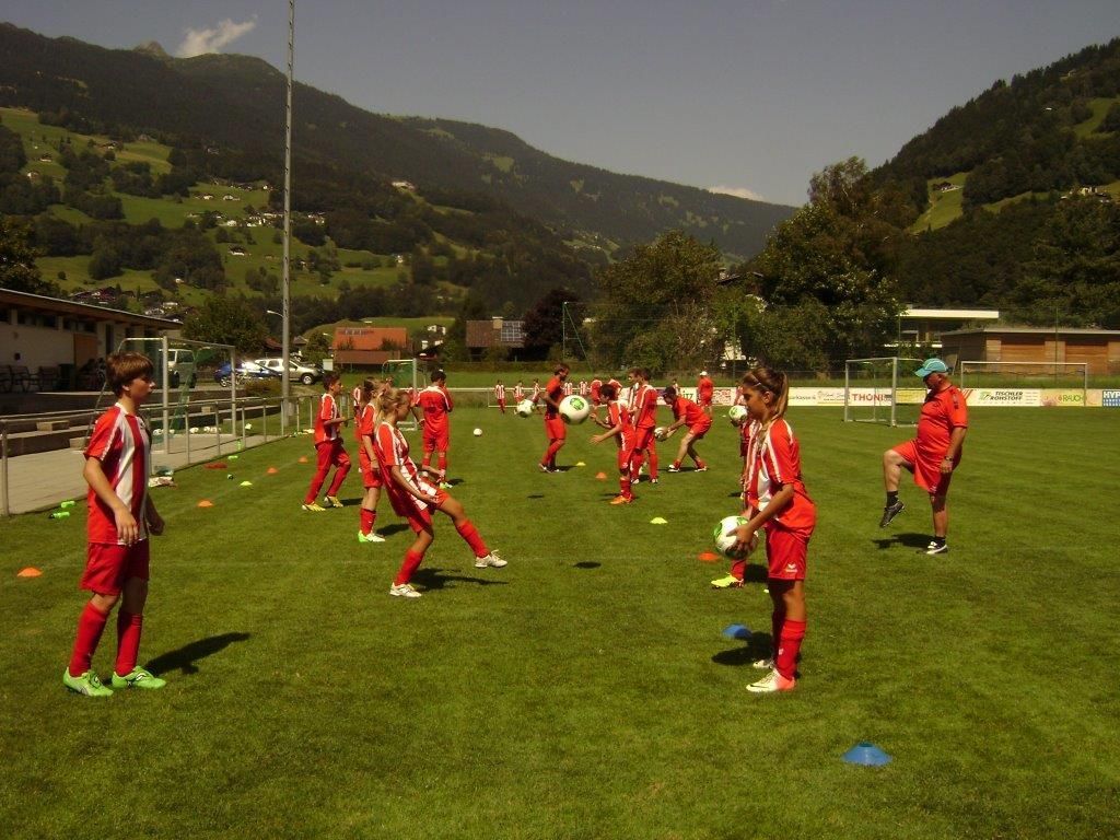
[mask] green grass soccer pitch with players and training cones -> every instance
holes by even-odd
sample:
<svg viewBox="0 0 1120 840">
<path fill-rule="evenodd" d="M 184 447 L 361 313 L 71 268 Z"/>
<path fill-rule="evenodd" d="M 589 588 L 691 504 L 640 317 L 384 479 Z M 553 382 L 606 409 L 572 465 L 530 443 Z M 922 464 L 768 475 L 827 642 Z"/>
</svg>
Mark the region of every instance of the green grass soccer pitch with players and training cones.
<svg viewBox="0 0 1120 840">
<path fill-rule="evenodd" d="M 168 685 L 108 700 L 60 680 L 84 505 L 0 522 L 4 833 L 1120 834 L 1120 412 L 973 411 L 951 550 L 925 557 L 908 477 L 906 511 L 877 528 L 880 454 L 908 432 L 794 409 L 819 511 L 809 635 L 797 689 L 763 697 L 745 690 L 769 645 L 760 556 L 740 590 L 711 589 L 726 563 L 698 559 L 738 511 L 724 413 L 700 444 L 708 473 L 664 473 L 678 436 L 661 484 L 612 507 L 615 448 L 590 445 L 592 426 L 544 475 L 539 417 L 456 411 L 451 493 L 510 564 L 475 569 L 437 516 L 411 601 L 388 594 L 411 541 L 388 500 L 388 542 L 357 543 L 356 469 L 346 510 L 299 510 L 309 437 L 177 473 L 152 491 L 167 534 L 140 651 Z M 43 576 L 17 578 L 27 566 Z M 755 633 L 727 638 L 731 624 Z M 111 620 L 106 676 L 114 645 Z M 894 760 L 844 764 L 865 740 Z"/>
</svg>

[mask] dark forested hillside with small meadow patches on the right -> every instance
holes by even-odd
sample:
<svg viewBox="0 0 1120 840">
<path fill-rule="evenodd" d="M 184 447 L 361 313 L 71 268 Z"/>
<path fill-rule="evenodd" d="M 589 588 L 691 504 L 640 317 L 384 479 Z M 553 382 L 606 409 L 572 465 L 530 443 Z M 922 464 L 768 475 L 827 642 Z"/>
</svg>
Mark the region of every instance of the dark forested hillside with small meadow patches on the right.
<svg viewBox="0 0 1120 840">
<path fill-rule="evenodd" d="M 871 174 L 906 300 L 1120 326 L 1120 38 L 997 81 Z"/>
</svg>

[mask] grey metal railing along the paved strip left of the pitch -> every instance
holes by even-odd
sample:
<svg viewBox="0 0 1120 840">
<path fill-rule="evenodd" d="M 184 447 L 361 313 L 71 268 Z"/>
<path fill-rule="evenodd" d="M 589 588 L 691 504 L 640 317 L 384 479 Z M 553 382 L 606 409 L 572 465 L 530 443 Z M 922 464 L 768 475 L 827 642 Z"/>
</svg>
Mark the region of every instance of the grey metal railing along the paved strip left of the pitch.
<svg viewBox="0 0 1120 840">
<path fill-rule="evenodd" d="M 287 411 L 279 396 L 193 396 L 176 403 L 166 416 L 158 403 L 146 405 L 141 414 L 152 435 L 152 472 L 198 464 L 298 433 L 315 424 L 318 408 L 319 398 L 315 395 L 290 398 Z M 67 458 L 69 441 L 87 441 L 104 410 L 99 407 L 0 418 L 0 515 L 41 510 L 84 493 L 81 469 Z M 38 429 L 39 423 L 60 422 L 68 426 Z M 54 446 L 26 451 L 28 446 L 36 446 L 34 441 L 52 433 L 59 438 Z"/>
</svg>

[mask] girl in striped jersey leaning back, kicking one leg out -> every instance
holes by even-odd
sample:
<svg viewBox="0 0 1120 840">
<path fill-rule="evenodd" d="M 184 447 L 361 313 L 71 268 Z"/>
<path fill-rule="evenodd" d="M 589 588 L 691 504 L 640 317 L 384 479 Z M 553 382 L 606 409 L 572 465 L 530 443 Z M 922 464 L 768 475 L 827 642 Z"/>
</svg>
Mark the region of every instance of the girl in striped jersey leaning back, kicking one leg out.
<svg viewBox="0 0 1120 840">
<path fill-rule="evenodd" d="M 396 428 L 396 423 L 409 414 L 409 396 L 400 391 L 385 391 L 377 398 L 377 426 L 374 433 L 374 449 L 385 476 L 385 491 L 398 515 L 408 520 L 417 539 L 404 553 L 401 569 L 389 588 L 389 594 L 398 598 L 419 598 L 410 582 L 413 572 L 423 561 L 424 552 L 436 539 L 431 526 L 431 512 L 441 511 L 455 522 L 470 550 L 475 552 L 475 568 L 494 567 L 501 569 L 506 561 L 489 551 L 474 524 L 467 519 L 463 505 L 426 478 L 426 472 L 417 468 L 409 457 L 409 442 Z"/>
</svg>

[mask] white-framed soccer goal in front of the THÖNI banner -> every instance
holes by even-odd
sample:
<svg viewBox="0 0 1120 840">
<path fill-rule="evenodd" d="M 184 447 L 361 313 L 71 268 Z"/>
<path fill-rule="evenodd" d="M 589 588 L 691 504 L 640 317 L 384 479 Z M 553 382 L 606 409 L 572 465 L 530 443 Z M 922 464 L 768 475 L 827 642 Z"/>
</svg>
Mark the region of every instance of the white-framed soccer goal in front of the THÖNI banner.
<svg viewBox="0 0 1120 840">
<path fill-rule="evenodd" d="M 913 426 L 925 398 L 912 382 L 921 358 L 881 356 L 849 358 L 843 365 L 844 422 Z"/>
</svg>

